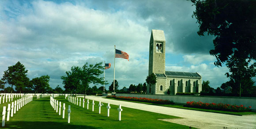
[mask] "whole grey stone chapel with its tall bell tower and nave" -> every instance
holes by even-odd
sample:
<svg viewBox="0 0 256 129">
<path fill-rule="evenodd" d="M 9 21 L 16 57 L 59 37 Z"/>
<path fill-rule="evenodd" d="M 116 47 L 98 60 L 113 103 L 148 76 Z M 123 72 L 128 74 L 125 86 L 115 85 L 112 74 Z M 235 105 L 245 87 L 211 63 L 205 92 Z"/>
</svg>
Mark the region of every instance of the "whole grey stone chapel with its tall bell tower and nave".
<svg viewBox="0 0 256 129">
<path fill-rule="evenodd" d="M 202 77 L 197 72 L 173 72 L 166 71 L 166 39 L 164 31 L 152 30 L 149 42 L 148 75 L 154 73 L 157 82 L 153 86 L 147 86 L 147 94 L 167 94 L 177 92 L 197 93 L 202 91 Z"/>
</svg>

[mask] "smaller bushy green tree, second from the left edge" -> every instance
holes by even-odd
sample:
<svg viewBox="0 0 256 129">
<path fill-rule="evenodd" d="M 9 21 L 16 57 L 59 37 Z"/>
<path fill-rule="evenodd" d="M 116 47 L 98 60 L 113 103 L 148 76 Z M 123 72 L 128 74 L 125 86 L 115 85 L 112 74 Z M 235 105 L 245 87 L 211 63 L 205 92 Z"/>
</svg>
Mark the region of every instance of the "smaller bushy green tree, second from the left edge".
<svg viewBox="0 0 256 129">
<path fill-rule="evenodd" d="M 41 77 L 36 77 L 31 80 L 31 88 L 34 90 L 35 93 L 49 93 L 49 91 L 52 92 L 52 89 L 50 89 L 49 81 L 49 75 L 42 75 Z"/>
</svg>

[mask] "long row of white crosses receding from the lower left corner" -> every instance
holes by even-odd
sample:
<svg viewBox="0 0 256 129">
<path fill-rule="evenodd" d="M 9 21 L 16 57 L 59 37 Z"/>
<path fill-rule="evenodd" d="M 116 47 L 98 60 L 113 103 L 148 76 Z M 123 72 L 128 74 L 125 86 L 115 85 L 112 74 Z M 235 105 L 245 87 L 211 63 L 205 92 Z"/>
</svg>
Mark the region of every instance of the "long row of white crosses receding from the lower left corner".
<svg viewBox="0 0 256 129">
<path fill-rule="evenodd" d="M 10 120 L 10 112 L 11 117 L 13 117 L 13 114 L 16 114 L 16 111 L 19 111 L 20 108 L 22 108 L 24 105 L 28 104 L 33 100 L 32 95 L 26 95 L 18 100 L 15 100 L 14 102 L 11 102 L 11 104 L 8 104 L 7 108 L 7 118 L 6 121 Z M 2 127 L 5 125 L 5 115 L 6 115 L 6 106 L 3 107 L 3 118 L 2 118 Z"/>
</svg>

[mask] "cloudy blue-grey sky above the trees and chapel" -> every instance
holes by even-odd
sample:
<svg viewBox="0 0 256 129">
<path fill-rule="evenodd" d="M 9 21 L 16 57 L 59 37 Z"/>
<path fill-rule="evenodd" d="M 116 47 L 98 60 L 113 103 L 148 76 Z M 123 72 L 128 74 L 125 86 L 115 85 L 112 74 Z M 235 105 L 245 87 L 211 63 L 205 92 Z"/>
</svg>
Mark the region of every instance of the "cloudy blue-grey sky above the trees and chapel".
<svg viewBox="0 0 256 129">
<path fill-rule="evenodd" d="M 160 29 L 166 71 L 198 72 L 217 88 L 229 80 L 228 68 L 213 64 L 214 37 L 197 35 L 193 11 L 187 0 L 0 0 L 0 78 L 20 61 L 30 79 L 49 75 L 54 89 L 72 66 L 106 61 L 111 84 L 116 45 L 130 55 L 116 58 L 120 88 L 137 85 L 148 74 L 151 30 Z"/>
</svg>

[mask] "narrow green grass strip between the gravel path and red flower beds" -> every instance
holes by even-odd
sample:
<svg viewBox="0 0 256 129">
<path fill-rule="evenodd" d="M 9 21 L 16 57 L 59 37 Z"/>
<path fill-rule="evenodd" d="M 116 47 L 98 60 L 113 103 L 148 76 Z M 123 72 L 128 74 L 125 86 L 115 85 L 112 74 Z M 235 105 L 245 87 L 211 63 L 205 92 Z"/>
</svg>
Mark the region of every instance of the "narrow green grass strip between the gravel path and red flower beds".
<svg viewBox="0 0 256 129">
<path fill-rule="evenodd" d="M 119 100 L 114 98 L 106 98 L 111 100 Z M 201 109 L 201 108 L 188 108 L 183 107 L 181 104 L 154 104 L 154 103 L 147 103 L 147 102 L 138 102 L 138 101 L 129 101 L 129 100 L 120 100 L 120 101 L 127 101 L 133 103 L 140 103 L 140 104 L 150 104 L 150 105 L 157 105 L 163 107 L 170 107 L 170 108 L 181 108 L 181 109 L 188 109 L 188 110 L 195 110 L 195 111 L 206 111 L 206 112 L 213 112 L 213 113 L 221 113 L 221 114 L 228 114 L 228 115 L 256 115 L 256 112 L 232 112 L 232 111 L 219 111 L 219 110 L 208 110 L 208 109 Z"/>
</svg>

